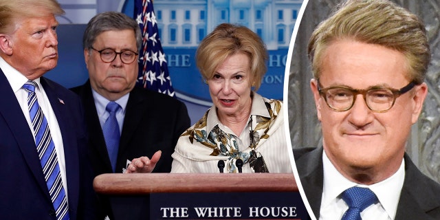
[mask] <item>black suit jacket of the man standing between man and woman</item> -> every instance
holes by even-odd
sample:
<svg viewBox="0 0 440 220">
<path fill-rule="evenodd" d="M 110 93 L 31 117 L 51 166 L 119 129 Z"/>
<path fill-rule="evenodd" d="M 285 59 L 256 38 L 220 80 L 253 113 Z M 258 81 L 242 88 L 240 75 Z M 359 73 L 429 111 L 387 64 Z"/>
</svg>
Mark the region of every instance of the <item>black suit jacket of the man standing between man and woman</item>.
<svg viewBox="0 0 440 220">
<path fill-rule="evenodd" d="M 86 110 L 95 175 L 113 173 L 89 80 L 80 87 L 72 88 L 72 91 L 82 98 Z M 155 91 L 135 87 L 130 92 L 126 104 L 115 173 L 122 173 L 122 168 L 126 168 L 127 159 L 141 156 L 151 158 L 159 150 L 162 151 L 162 157 L 153 172 L 169 173 L 173 162 L 171 154 L 179 136 L 189 126 L 190 118 L 184 103 Z M 106 200 L 102 202 L 106 203 Z M 112 197 L 110 200 L 114 219 L 148 217 L 148 197 Z M 111 214 L 109 207 L 105 206 L 105 212 Z"/>
</svg>

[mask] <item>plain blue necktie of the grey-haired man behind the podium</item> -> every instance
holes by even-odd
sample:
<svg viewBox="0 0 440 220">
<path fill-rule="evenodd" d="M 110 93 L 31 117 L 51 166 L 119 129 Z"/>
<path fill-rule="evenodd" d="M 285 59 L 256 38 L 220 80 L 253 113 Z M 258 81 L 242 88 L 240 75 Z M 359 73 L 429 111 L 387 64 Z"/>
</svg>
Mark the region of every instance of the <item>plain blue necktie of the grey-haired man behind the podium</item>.
<svg viewBox="0 0 440 220">
<path fill-rule="evenodd" d="M 102 133 L 104 133 L 105 144 L 107 145 L 107 151 L 109 152 L 113 172 L 115 172 L 116 160 L 118 159 L 120 140 L 119 124 L 116 119 L 116 111 L 118 111 L 119 108 L 120 106 L 116 102 L 109 102 L 109 104 L 107 104 L 105 110 L 108 111 L 110 115 L 102 126 Z"/>
</svg>

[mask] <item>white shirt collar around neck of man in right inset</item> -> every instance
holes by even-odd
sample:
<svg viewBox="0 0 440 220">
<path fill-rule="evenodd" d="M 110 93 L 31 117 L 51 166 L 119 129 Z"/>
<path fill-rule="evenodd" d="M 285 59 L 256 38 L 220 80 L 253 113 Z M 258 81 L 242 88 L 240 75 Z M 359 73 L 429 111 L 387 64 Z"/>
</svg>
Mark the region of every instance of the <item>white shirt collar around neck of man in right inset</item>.
<svg viewBox="0 0 440 220">
<path fill-rule="evenodd" d="M 325 151 L 322 153 L 322 164 L 324 167 L 324 188 L 322 190 L 323 206 L 335 202 L 335 199 L 337 199 L 337 197 L 347 188 L 362 186 L 370 188 L 375 193 L 388 216 L 391 217 L 391 219 L 394 219 L 397 211 L 397 204 L 399 203 L 401 188 L 404 185 L 405 179 L 405 161 L 403 158 L 396 173 L 384 181 L 369 186 L 356 184 L 345 178 L 338 172 L 338 170 L 336 170 L 336 167 L 331 164 Z"/>
</svg>

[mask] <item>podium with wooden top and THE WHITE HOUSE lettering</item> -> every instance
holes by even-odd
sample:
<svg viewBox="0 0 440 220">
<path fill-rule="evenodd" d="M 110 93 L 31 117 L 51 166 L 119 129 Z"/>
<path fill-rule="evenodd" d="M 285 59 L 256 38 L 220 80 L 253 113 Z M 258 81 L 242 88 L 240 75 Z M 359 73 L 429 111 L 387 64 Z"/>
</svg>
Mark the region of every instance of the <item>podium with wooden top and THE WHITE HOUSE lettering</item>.
<svg viewBox="0 0 440 220">
<path fill-rule="evenodd" d="M 94 188 L 148 197 L 146 219 L 308 219 L 293 173 L 112 173 Z"/>
</svg>

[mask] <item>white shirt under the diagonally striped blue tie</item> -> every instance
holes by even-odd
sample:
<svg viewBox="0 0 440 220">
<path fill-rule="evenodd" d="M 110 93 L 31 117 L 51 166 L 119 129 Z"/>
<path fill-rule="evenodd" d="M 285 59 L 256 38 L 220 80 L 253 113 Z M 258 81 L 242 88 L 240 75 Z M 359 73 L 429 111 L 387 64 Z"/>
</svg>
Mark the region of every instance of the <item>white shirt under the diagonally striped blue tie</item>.
<svg viewBox="0 0 440 220">
<path fill-rule="evenodd" d="M 32 127 L 32 122 L 30 120 L 30 113 L 28 107 L 28 91 L 23 89 L 23 85 L 28 81 L 23 74 L 21 74 L 17 69 L 14 69 L 11 65 L 6 63 L 3 58 L 0 58 L 0 68 L 3 70 L 6 78 L 8 78 L 9 84 L 12 87 L 12 91 L 14 91 L 15 96 L 20 104 L 21 111 L 23 111 L 23 115 L 28 121 L 29 129 L 34 135 L 34 129 Z M 60 126 L 58 125 L 58 120 L 56 119 L 54 110 L 49 102 L 49 98 L 41 86 L 40 78 L 36 78 L 34 82 L 38 85 L 38 88 L 35 88 L 36 98 L 41 107 L 41 111 L 45 115 L 47 123 L 49 124 L 50 134 L 52 136 L 52 140 L 55 144 L 56 156 L 58 158 L 58 166 L 60 167 L 61 179 L 63 180 L 63 187 L 65 190 L 66 198 L 67 198 L 67 178 L 66 178 L 66 166 L 65 166 L 65 157 L 64 157 L 64 146 L 63 146 L 63 137 L 61 135 Z M 36 151 L 36 146 L 35 146 Z"/>
</svg>

